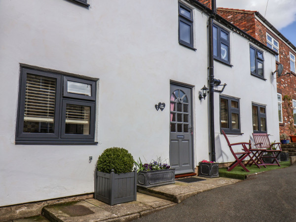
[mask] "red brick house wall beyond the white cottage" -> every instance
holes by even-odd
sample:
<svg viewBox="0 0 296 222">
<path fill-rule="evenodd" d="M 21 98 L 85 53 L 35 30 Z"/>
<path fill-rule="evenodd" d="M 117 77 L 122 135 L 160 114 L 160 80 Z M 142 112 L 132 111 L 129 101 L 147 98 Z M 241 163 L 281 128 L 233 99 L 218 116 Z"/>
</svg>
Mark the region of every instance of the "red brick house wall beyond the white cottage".
<svg viewBox="0 0 296 222">
<path fill-rule="evenodd" d="M 199 1 L 209 8 L 212 6 L 211 0 Z M 217 14 L 265 45 L 267 44 L 267 34 L 278 42 L 279 61 L 276 61 L 276 68 L 278 68 L 279 64 L 282 64 L 284 67 L 282 74 L 286 74 L 277 77 L 277 92 L 281 96 L 279 105 L 282 106 L 282 121 L 280 121 L 279 117 L 280 134 L 296 134 L 296 114 L 294 114 L 296 113 L 296 107 L 293 107 L 293 100 L 296 103 L 296 74 L 290 68 L 290 53 L 296 56 L 296 46 L 273 27 L 258 11 L 217 8 Z"/>
</svg>

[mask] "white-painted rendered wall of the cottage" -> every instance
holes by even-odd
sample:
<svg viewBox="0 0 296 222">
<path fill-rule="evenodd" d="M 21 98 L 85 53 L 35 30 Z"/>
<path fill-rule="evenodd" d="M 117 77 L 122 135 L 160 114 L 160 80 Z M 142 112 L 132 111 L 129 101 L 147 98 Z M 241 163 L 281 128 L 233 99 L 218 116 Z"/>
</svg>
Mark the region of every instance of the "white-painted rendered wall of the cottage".
<svg viewBox="0 0 296 222">
<path fill-rule="evenodd" d="M 193 85 L 194 166 L 209 159 L 207 20 L 194 9 L 194 47 L 178 42 L 177 0 L 0 1 L 0 206 L 94 191 L 98 156 L 105 148 L 128 149 L 135 160 L 169 158 L 170 81 Z M 224 95 L 240 98 L 241 136 L 249 141 L 251 103 L 266 105 L 268 133 L 278 140 L 274 56 L 264 53 L 266 81 L 250 75 L 249 42 L 230 35 L 232 68 L 215 62 Z M 98 145 L 15 145 L 20 64 L 98 78 Z M 164 102 L 163 111 L 154 108 Z M 220 135 L 215 93 L 215 139 L 233 161 Z M 217 148 L 216 148 L 217 149 Z M 89 156 L 93 161 L 89 163 Z"/>
</svg>

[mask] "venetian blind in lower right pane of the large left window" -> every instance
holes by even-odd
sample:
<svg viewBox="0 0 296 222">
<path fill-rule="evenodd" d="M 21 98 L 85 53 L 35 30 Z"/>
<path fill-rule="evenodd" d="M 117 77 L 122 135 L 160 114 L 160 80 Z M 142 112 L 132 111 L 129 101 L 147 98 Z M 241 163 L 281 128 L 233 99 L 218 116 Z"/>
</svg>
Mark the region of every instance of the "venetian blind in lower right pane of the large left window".
<svg viewBox="0 0 296 222">
<path fill-rule="evenodd" d="M 67 104 L 66 123 L 89 124 L 90 107 Z"/>
</svg>

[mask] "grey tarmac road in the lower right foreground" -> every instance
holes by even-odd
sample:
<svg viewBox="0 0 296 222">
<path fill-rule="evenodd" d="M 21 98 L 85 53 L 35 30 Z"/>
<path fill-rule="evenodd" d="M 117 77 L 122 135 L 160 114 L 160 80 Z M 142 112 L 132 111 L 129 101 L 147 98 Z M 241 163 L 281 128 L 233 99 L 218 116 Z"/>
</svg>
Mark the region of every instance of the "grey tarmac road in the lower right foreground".
<svg viewBox="0 0 296 222">
<path fill-rule="evenodd" d="M 199 193 L 136 220 L 155 221 L 296 222 L 296 165 Z"/>
</svg>

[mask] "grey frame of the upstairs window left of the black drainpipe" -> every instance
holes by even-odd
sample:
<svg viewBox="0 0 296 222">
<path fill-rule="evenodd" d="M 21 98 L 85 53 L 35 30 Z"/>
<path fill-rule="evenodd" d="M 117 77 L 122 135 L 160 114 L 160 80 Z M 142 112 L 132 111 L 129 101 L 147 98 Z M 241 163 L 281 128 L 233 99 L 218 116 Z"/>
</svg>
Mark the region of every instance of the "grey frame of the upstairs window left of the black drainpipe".
<svg viewBox="0 0 296 222">
<path fill-rule="evenodd" d="M 181 12 L 180 12 L 181 7 L 190 12 L 190 18 L 181 14 Z M 193 41 L 193 13 L 192 13 L 192 9 L 186 7 L 184 4 L 181 4 L 179 2 L 178 3 L 178 12 L 179 12 L 179 19 L 178 19 L 178 40 L 179 40 L 179 43 L 182 45 L 185 45 L 186 47 L 196 50 L 193 47 L 194 41 Z M 183 22 L 183 23 L 187 24 L 188 26 L 190 26 L 190 43 L 185 42 L 180 39 L 180 22 Z"/>
</svg>

